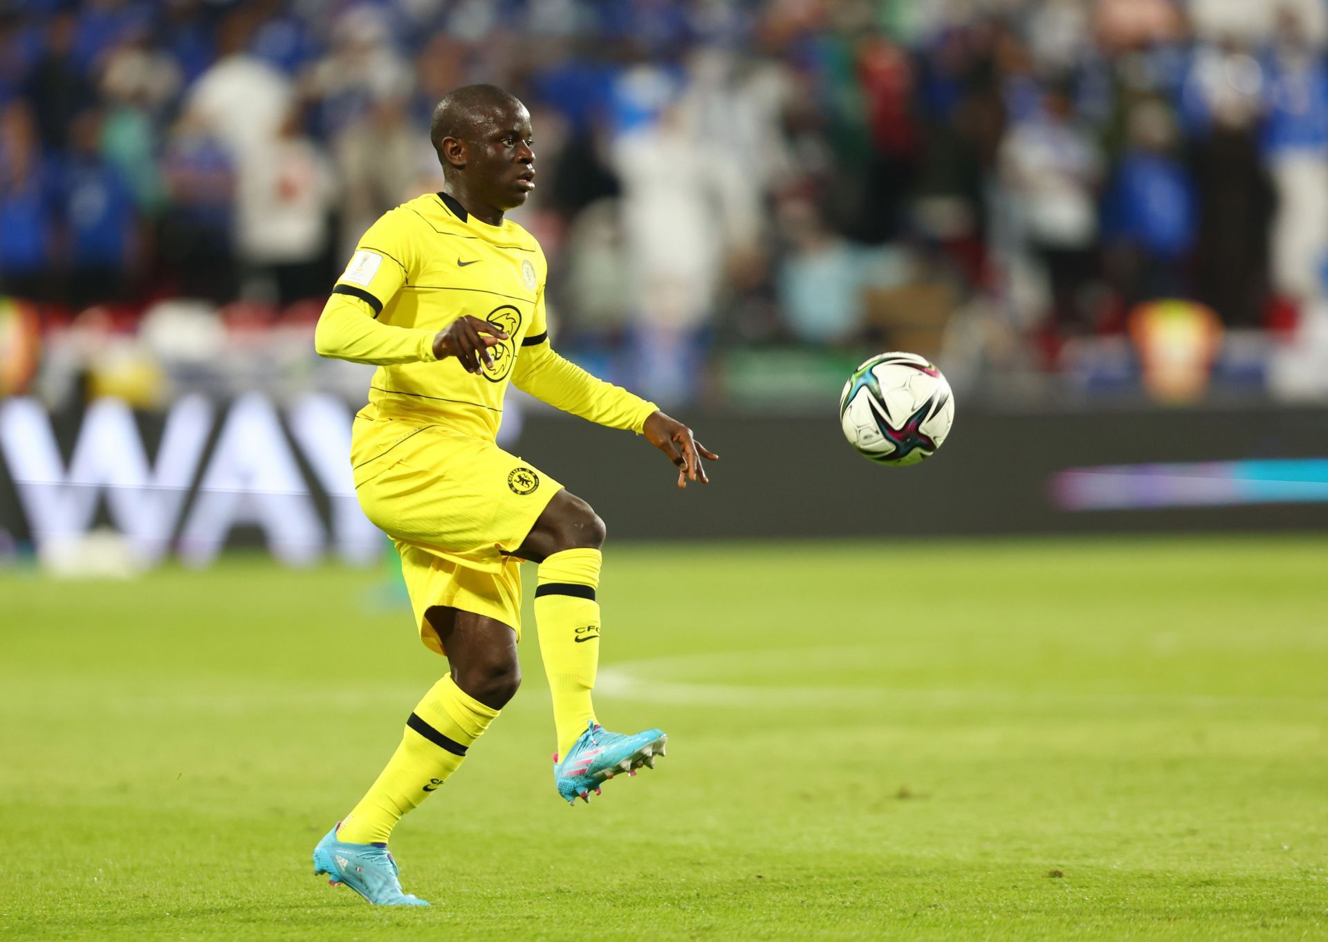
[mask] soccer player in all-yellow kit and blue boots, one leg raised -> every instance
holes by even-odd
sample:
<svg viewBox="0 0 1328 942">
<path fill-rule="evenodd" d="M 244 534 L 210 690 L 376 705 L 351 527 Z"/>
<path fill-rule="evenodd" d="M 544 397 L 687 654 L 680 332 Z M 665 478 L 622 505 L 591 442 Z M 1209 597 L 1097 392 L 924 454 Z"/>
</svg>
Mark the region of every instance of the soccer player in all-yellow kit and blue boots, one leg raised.
<svg viewBox="0 0 1328 942">
<path fill-rule="evenodd" d="M 507 383 L 644 435 L 677 466 L 679 487 L 708 483 L 701 458 L 717 458 L 655 403 L 551 349 L 544 253 L 503 218 L 535 186 L 525 105 L 493 85 L 457 89 L 434 109 L 430 139 L 442 192 L 369 227 L 315 334 L 324 357 L 378 365 L 355 417 L 356 494 L 401 553 L 421 639 L 449 662 L 386 768 L 313 850 L 316 873 L 381 905 L 428 905 L 402 892 L 388 839 L 457 771 L 521 683 L 521 560 L 539 564 L 535 621 L 554 701 L 558 793 L 588 803 L 604 780 L 664 754 L 661 730 L 620 735 L 595 722 L 604 523 L 498 447 Z"/>
</svg>

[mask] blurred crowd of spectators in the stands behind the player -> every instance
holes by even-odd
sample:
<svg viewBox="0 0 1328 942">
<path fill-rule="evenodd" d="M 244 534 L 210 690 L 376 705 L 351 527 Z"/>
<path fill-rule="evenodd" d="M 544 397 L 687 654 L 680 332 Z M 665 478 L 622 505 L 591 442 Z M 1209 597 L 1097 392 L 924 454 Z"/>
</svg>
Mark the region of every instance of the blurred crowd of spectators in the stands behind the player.
<svg viewBox="0 0 1328 942">
<path fill-rule="evenodd" d="M 533 111 L 559 344 L 660 398 L 717 350 L 1054 368 L 1159 299 L 1286 332 L 1324 296 L 1324 0 L 0 9 L 0 295 L 49 322 L 307 325 L 474 81 Z"/>
</svg>

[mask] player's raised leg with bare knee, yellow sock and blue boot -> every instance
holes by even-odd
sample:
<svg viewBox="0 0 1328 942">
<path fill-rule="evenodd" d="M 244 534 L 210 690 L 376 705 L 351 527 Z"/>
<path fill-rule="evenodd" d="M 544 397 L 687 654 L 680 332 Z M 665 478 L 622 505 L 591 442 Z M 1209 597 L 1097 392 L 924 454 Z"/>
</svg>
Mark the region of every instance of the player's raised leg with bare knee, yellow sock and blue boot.
<svg viewBox="0 0 1328 942">
<path fill-rule="evenodd" d="M 635 775 L 643 763 L 653 766 L 667 740 L 660 730 L 624 736 L 595 722 L 604 536 L 604 521 L 590 504 L 559 491 L 515 553 L 539 563 L 535 624 L 558 728 L 554 777 L 568 801 L 588 801 L 591 789 L 618 772 Z"/>
</svg>

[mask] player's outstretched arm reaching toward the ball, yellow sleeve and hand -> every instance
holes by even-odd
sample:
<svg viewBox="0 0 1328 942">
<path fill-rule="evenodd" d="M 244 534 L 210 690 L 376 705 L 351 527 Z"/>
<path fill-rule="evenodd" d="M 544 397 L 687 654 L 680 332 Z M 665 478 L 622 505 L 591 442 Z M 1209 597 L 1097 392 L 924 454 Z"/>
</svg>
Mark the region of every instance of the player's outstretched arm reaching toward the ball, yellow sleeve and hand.
<svg viewBox="0 0 1328 942">
<path fill-rule="evenodd" d="M 537 324 L 540 320 L 537 317 Z M 718 455 L 697 442 L 691 429 L 665 415 L 653 402 L 604 382 L 558 356 L 548 345 L 547 333 L 523 341 L 513 369 L 513 382 L 518 389 L 566 413 L 611 429 L 631 429 L 645 435 L 651 444 L 677 466 L 679 487 L 687 487 L 689 480 L 709 483 L 705 468 L 701 467 L 701 456 L 713 462 L 718 460 Z"/>
</svg>

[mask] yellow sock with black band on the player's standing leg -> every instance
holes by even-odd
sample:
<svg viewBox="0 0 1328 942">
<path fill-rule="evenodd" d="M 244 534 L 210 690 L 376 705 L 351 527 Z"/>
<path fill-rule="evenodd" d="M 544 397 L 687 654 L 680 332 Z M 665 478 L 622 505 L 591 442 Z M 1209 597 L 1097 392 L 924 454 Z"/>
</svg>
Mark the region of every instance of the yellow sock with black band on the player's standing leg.
<svg viewBox="0 0 1328 942">
<path fill-rule="evenodd" d="M 337 829 L 352 844 L 386 844 L 401 816 L 429 797 L 498 715 L 456 685 L 438 681 L 406 720 L 401 744 Z"/>
</svg>

